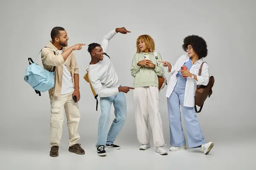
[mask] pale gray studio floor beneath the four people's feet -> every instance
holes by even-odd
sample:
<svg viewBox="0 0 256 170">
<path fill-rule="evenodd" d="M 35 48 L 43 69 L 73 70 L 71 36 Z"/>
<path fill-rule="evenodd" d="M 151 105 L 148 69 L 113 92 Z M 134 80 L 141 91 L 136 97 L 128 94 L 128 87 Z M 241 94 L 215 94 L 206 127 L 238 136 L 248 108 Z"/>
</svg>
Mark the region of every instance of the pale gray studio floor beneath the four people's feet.
<svg viewBox="0 0 256 170">
<path fill-rule="evenodd" d="M 155 153 L 155 148 L 139 150 L 137 144 L 122 144 L 121 150 L 107 149 L 108 155 L 99 157 L 93 143 L 83 145 L 85 155 L 76 155 L 62 144 L 56 158 L 49 156 L 48 147 L 4 147 L 0 150 L 0 170 L 255 170 L 253 141 L 220 143 L 208 155 L 199 149 Z M 168 145 L 166 147 L 169 147 Z"/>
</svg>

